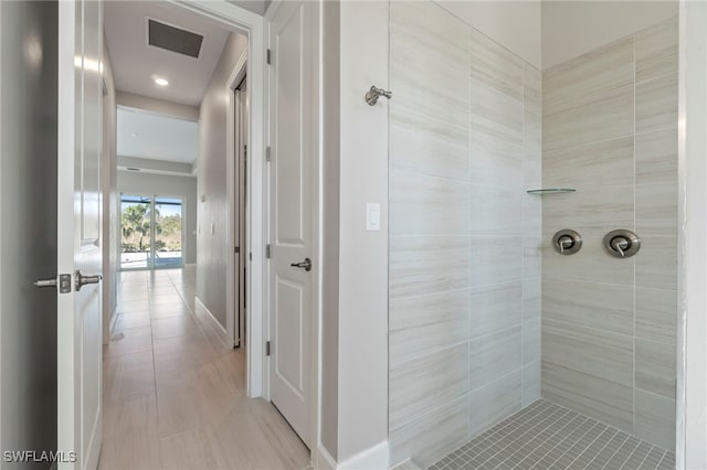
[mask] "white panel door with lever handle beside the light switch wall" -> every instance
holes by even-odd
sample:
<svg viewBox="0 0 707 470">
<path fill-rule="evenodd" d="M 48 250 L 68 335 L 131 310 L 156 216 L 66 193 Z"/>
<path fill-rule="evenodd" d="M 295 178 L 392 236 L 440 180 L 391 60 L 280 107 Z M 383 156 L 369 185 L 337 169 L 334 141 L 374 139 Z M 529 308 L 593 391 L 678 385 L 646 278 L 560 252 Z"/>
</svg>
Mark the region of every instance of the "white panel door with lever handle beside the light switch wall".
<svg viewBox="0 0 707 470">
<path fill-rule="evenodd" d="M 284 2 L 271 24 L 271 400 L 312 448 L 312 332 L 317 280 L 313 174 L 316 2 Z M 312 268 L 305 266 L 309 263 Z M 299 267 L 293 266 L 299 264 Z"/>
</svg>

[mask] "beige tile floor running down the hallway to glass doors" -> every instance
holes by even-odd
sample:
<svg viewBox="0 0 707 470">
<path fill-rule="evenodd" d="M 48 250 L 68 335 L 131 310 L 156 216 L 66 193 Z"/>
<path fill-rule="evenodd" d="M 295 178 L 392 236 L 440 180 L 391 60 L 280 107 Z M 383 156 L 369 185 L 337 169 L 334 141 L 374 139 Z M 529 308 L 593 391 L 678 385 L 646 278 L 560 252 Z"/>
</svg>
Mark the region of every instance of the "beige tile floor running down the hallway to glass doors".
<svg viewBox="0 0 707 470">
<path fill-rule="evenodd" d="M 104 348 L 99 469 L 302 469 L 309 451 L 245 394 L 242 349 L 194 316 L 196 269 L 120 274 Z"/>
</svg>

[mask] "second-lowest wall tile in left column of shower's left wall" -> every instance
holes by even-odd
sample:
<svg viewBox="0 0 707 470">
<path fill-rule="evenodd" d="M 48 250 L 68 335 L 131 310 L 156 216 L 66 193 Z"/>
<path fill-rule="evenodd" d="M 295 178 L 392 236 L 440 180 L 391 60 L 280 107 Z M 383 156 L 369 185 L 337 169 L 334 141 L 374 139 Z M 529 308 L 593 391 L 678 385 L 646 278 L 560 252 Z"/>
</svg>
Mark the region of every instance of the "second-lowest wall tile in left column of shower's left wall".
<svg viewBox="0 0 707 470">
<path fill-rule="evenodd" d="M 390 428 L 468 393 L 468 343 L 390 366 Z"/>
</svg>

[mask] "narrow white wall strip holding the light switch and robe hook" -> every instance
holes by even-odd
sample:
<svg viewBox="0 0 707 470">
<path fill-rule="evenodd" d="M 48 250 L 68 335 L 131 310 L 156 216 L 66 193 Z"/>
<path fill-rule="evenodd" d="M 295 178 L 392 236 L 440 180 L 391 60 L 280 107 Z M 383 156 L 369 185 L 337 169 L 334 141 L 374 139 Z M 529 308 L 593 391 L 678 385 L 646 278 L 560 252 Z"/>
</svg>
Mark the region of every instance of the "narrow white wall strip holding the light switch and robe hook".
<svg viewBox="0 0 707 470">
<path fill-rule="evenodd" d="M 388 438 L 388 102 L 363 100 L 388 88 L 388 2 L 340 4 L 339 462 Z M 367 202 L 381 232 L 366 232 Z"/>
</svg>

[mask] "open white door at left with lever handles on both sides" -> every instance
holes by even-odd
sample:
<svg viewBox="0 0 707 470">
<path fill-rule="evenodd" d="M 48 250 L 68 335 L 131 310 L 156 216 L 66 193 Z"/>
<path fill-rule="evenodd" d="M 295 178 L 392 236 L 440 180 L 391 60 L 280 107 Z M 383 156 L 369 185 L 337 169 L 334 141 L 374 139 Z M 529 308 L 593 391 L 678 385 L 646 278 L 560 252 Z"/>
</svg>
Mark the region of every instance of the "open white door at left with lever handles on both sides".
<svg viewBox="0 0 707 470">
<path fill-rule="evenodd" d="M 72 289 L 57 293 L 57 446 L 76 456 L 60 469 L 95 469 L 102 440 L 102 9 L 59 2 L 59 273 Z M 77 288 L 77 273 L 95 284 Z"/>
</svg>

